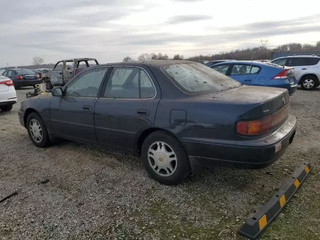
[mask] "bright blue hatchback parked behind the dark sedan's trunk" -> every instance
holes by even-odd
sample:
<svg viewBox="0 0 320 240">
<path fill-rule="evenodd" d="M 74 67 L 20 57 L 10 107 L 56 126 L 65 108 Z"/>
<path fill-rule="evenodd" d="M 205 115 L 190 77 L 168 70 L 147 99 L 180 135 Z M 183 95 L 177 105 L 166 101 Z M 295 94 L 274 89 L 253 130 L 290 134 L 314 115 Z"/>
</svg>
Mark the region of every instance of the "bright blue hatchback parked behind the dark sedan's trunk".
<svg viewBox="0 0 320 240">
<path fill-rule="evenodd" d="M 246 85 L 282 87 L 289 95 L 296 91 L 292 67 L 260 61 L 227 61 L 210 67 Z"/>
</svg>

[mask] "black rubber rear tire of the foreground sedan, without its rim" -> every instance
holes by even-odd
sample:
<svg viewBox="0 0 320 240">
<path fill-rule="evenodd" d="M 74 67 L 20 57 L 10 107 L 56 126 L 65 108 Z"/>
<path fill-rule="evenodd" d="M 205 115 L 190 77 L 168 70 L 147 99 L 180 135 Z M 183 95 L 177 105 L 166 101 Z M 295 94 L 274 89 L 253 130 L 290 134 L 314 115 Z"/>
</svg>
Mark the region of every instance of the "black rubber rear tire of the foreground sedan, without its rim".
<svg viewBox="0 0 320 240">
<path fill-rule="evenodd" d="M 153 170 L 148 160 L 149 147 L 154 142 L 161 141 L 168 144 L 175 153 L 176 157 L 176 168 L 172 175 L 161 176 Z M 166 184 L 173 185 L 180 183 L 190 174 L 190 163 L 188 160 L 187 153 L 181 143 L 175 137 L 166 133 L 165 131 L 155 131 L 148 135 L 141 147 L 141 158 L 142 163 L 148 174 L 156 181 Z"/>
</svg>

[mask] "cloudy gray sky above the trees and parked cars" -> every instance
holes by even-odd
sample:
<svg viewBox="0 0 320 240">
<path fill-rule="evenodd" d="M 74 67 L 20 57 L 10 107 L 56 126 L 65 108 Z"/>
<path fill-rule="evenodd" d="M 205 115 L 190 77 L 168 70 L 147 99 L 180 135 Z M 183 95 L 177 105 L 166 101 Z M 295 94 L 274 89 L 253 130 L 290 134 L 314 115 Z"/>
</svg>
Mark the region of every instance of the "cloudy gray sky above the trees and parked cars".
<svg viewBox="0 0 320 240">
<path fill-rule="evenodd" d="M 6 0 L 0 66 L 162 52 L 185 57 L 320 40 L 320 2 L 279 0 Z"/>
</svg>

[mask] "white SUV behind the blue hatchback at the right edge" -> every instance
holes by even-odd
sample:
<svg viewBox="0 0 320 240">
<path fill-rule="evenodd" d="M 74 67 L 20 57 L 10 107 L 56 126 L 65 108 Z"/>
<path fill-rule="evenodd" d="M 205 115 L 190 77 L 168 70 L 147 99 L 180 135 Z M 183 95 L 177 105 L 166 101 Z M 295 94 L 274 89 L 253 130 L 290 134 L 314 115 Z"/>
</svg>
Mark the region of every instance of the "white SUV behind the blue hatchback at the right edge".
<svg viewBox="0 0 320 240">
<path fill-rule="evenodd" d="M 320 55 L 292 55 L 273 59 L 271 62 L 294 67 L 297 83 L 304 90 L 320 85 Z"/>
</svg>

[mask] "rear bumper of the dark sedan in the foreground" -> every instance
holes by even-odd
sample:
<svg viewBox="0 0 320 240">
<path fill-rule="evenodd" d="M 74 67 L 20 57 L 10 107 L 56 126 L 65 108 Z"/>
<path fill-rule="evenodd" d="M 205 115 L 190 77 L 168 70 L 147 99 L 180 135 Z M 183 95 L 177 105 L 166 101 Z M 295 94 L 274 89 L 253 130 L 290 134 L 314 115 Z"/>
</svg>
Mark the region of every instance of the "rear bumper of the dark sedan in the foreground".
<svg viewBox="0 0 320 240">
<path fill-rule="evenodd" d="M 288 119 L 276 131 L 259 139 L 218 142 L 183 141 L 191 165 L 221 165 L 239 168 L 263 168 L 276 161 L 292 142 L 296 129 L 296 118 Z M 275 145 L 281 149 L 275 152 Z"/>
</svg>

